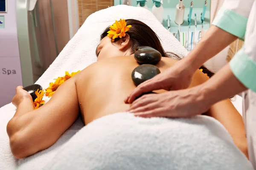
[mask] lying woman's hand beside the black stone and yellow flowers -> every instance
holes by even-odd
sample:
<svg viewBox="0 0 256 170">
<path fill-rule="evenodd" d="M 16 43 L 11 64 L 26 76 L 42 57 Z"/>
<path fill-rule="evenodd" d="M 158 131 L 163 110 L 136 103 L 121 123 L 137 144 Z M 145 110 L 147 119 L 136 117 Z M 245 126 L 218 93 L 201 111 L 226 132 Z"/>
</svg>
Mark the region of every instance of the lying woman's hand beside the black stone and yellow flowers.
<svg viewBox="0 0 256 170">
<path fill-rule="evenodd" d="M 12 99 L 12 104 L 18 107 L 24 100 L 32 101 L 32 96 L 27 91 L 23 90 L 22 86 L 18 86 L 16 88 L 16 95 Z"/>
</svg>

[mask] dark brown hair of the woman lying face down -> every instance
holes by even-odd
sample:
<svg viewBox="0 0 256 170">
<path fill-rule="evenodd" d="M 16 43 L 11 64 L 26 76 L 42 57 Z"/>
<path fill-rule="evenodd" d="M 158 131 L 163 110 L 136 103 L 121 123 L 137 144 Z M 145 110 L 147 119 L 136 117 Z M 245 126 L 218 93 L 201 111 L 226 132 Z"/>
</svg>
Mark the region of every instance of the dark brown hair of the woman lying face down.
<svg viewBox="0 0 256 170">
<path fill-rule="evenodd" d="M 172 52 L 165 52 L 161 42 L 160 38 L 157 36 L 157 34 L 145 23 L 134 20 L 134 19 L 128 19 L 125 20 L 127 25 L 131 25 L 132 27 L 127 32 L 130 36 L 130 43 L 131 43 L 131 52 L 135 53 L 135 48 L 138 46 L 148 46 L 152 47 L 155 50 L 159 51 L 163 57 L 170 57 L 173 59 L 181 59 L 177 54 Z M 105 31 L 101 35 L 101 40 L 108 35 L 109 27 L 105 29 Z M 120 38 L 116 38 L 115 41 L 119 40 Z M 201 66 L 200 69 L 203 69 L 203 72 L 206 73 L 209 77 L 212 77 L 214 74 L 212 71 L 209 71 L 205 66 Z"/>
</svg>

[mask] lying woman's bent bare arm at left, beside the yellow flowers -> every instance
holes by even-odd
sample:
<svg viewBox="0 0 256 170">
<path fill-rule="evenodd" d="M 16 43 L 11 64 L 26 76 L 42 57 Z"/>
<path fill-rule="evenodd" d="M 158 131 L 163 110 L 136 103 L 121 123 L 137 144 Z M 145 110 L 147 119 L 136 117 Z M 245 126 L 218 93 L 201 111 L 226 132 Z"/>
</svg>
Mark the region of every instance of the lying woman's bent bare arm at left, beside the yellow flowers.
<svg viewBox="0 0 256 170">
<path fill-rule="evenodd" d="M 52 146 L 75 122 L 79 116 L 75 80 L 73 77 L 64 82 L 49 102 L 36 110 L 32 99 L 19 97 L 17 111 L 7 125 L 10 147 L 16 158 L 32 155 Z M 21 87 L 17 88 L 16 95 L 22 93 L 26 96 L 27 92 Z"/>
</svg>

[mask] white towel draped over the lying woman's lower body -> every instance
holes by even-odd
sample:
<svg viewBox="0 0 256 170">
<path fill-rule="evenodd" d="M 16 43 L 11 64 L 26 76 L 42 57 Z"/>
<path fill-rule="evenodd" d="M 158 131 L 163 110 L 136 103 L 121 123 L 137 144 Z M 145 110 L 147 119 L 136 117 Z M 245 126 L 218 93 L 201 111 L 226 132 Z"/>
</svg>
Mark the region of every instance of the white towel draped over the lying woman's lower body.
<svg viewBox="0 0 256 170">
<path fill-rule="evenodd" d="M 209 116 L 96 119 L 45 170 L 253 170 L 224 126 Z"/>
</svg>

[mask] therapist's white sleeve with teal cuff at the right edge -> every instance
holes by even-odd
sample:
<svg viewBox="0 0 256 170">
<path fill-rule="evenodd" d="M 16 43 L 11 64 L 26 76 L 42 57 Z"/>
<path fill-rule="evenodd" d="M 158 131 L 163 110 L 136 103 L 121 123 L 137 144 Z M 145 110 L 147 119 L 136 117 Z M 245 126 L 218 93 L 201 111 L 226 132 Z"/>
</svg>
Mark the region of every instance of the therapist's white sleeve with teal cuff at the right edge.
<svg viewBox="0 0 256 170">
<path fill-rule="evenodd" d="M 230 61 L 230 68 L 240 82 L 256 92 L 256 2 L 250 11 L 244 46 Z"/>
</svg>

